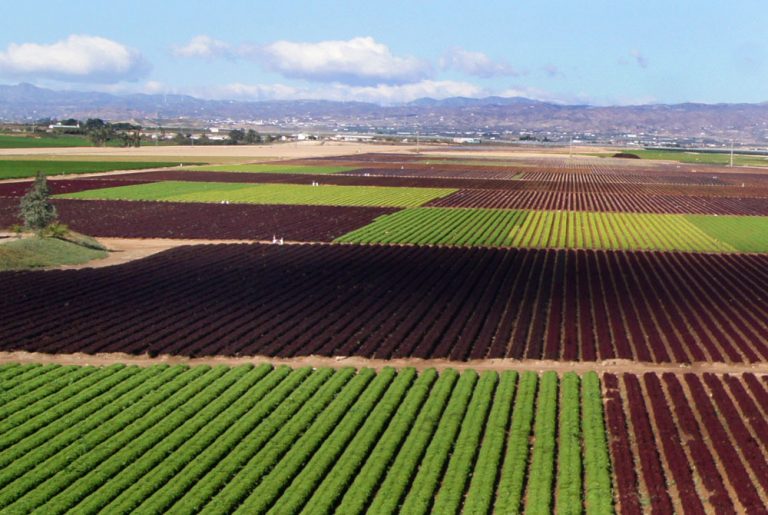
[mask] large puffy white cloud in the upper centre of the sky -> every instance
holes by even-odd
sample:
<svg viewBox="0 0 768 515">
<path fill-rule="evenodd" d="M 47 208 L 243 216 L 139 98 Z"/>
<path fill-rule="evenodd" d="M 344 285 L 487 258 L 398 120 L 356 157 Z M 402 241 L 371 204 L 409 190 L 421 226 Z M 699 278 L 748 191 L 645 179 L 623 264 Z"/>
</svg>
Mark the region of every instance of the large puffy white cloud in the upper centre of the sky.
<svg viewBox="0 0 768 515">
<path fill-rule="evenodd" d="M 239 52 L 285 77 L 318 82 L 403 84 L 432 74 L 429 63 L 395 56 L 372 37 L 317 43 L 276 41 L 260 47 L 241 47 Z"/>
</svg>

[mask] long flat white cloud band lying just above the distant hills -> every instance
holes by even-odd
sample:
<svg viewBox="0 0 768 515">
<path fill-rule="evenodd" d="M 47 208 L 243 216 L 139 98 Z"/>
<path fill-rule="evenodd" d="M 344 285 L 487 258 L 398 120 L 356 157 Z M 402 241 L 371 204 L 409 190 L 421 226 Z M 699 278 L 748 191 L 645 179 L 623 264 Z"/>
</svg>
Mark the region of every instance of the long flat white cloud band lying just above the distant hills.
<svg viewBox="0 0 768 515">
<path fill-rule="evenodd" d="M 378 84 L 353 86 L 349 84 L 325 84 L 318 87 L 295 87 L 285 84 L 233 83 L 191 91 L 204 98 L 235 100 L 297 100 L 320 99 L 337 101 L 373 102 L 396 104 L 423 97 L 479 97 L 486 92 L 475 84 L 456 81 L 423 80 L 410 84 Z"/>
</svg>

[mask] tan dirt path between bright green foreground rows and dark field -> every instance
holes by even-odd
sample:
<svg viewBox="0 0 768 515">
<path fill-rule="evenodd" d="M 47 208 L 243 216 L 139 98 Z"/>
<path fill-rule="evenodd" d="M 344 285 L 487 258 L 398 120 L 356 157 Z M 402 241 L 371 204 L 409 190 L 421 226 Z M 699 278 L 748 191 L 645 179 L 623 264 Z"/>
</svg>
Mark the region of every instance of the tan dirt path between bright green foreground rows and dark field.
<svg viewBox="0 0 768 515">
<path fill-rule="evenodd" d="M 452 368 L 455 370 L 476 370 L 478 372 L 486 370 L 517 370 L 520 372 L 546 372 L 553 370 L 558 373 L 577 372 L 584 373 L 595 371 L 599 374 L 612 373 L 635 373 L 644 372 L 674 374 L 684 373 L 704 373 L 714 374 L 743 374 L 752 373 L 758 375 L 768 375 L 768 364 L 729 364 L 729 363 L 697 363 L 692 365 L 671 365 L 655 363 L 637 363 L 630 360 L 608 360 L 601 362 L 561 362 L 561 361 L 539 361 L 539 360 L 513 360 L 513 359 L 489 359 L 474 361 L 448 361 L 444 359 L 368 359 L 359 357 L 322 357 L 305 356 L 298 358 L 272 358 L 269 356 L 210 356 L 201 358 L 189 358 L 185 356 L 160 355 L 151 357 L 146 354 L 132 355 L 121 352 L 100 353 L 100 354 L 45 354 L 38 352 L 0 352 L 0 364 L 7 363 L 57 363 L 60 365 L 94 365 L 107 366 L 116 363 L 126 365 L 151 366 L 151 365 L 259 365 L 270 363 L 272 365 L 288 365 L 291 367 L 310 366 L 320 367 L 355 367 L 355 368 L 373 368 L 381 370 L 384 367 L 405 368 L 413 367 L 417 370 L 435 368 L 445 370 Z"/>
</svg>

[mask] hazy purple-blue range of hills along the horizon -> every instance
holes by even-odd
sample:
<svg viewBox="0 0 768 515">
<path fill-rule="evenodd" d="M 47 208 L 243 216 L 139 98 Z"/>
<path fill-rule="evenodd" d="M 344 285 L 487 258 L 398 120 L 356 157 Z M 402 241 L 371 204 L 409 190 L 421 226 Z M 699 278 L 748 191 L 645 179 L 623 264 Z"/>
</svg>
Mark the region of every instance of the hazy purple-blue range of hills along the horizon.
<svg viewBox="0 0 768 515">
<path fill-rule="evenodd" d="M 283 126 L 376 127 L 395 130 L 489 130 L 646 133 L 730 138 L 768 144 L 768 103 L 562 105 L 522 97 L 421 98 L 400 105 L 290 100 L 243 102 L 188 95 L 112 95 L 54 91 L 31 84 L 0 86 L 0 119 L 43 117 L 110 120 L 267 120 Z"/>
</svg>

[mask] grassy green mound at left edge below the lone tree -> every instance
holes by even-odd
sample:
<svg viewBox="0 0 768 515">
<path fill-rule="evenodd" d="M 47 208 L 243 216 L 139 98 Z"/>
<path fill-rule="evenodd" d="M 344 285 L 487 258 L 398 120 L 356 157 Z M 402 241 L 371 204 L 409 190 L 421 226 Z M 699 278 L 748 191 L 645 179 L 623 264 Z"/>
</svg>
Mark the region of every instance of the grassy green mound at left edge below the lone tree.
<svg viewBox="0 0 768 515">
<path fill-rule="evenodd" d="M 24 238 L 0 243 L 0 271 L 77 265 L 105 257 L 107 253 L 103 250 L 54 238 Z"/>
</svg>

